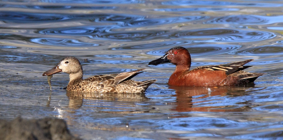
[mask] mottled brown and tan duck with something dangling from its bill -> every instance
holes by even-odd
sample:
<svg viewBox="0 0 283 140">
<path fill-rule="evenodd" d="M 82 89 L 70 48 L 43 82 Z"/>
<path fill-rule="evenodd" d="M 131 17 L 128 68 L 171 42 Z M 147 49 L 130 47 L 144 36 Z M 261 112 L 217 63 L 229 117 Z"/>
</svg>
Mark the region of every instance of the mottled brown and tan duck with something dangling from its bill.
<svg viewBox="0 0 283 140">
<path fill-rule="evenodd" d="M 131 80 L 141 70 L 123 72 L 119 74 L 95 75 L 83 80 L 83 69 L 76 57 L 66 57 L 51 70 L 42 76 L 56 74 L 58 72 L 68 73 L 70 81 L 66 90 L 78 92 L 113 92 L 113 93 L 143 93 L 149 85 L 156 80 L 134 81 Z"/>
</svg>

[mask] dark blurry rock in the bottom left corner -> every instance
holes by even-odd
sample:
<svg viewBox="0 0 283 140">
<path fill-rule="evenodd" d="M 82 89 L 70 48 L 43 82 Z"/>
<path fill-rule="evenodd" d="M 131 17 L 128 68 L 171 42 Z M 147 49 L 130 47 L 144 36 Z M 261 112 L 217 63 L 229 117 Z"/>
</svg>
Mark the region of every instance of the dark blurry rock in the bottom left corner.
<svg viewBox="0 0 283 140">
<path fill-rule="evenodd" d="M 12 120 L 0 120 L 0 139 L 18 140 L 78 140 L 70 134 L 67 124 L 63 119 L 22 119 L 20 117 Z"/>
</svg>

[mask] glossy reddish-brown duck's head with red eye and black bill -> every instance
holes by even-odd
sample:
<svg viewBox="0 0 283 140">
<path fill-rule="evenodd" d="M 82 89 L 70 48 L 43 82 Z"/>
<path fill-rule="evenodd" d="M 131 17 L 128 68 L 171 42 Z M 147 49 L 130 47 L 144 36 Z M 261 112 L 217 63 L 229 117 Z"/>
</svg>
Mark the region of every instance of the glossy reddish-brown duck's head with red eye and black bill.
<svg viewBox="0 0 283 140">
<path fill-rule="evenodd" d="M 161 63 L 170 62 L 175 65 L 189 65 L 191 64 L 191 56 L 189 51 L 184 47 L 171 48 L 165 55 L 159 59 L 153 60 L 148 65 L 158 65 Z"/>
</svg>

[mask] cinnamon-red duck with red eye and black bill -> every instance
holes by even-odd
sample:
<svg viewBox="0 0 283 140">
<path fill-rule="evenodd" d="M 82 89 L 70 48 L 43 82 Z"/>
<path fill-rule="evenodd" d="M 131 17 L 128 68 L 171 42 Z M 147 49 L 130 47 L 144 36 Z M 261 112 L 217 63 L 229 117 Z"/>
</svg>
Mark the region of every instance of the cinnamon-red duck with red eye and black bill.
<svg viewBox="0 0 283 140">
<path fill-rule="evenodd" d="M 228 63 L 224 65 L 200 66 L 190 70 L 191 56 L 186 48 L 171 48 L 164 56 L 149 62 L 158 65 L 170 62 L 176 69 L 170 76 L 168 84 L 175 86 L 224 86 L 252 83 L 263 73 L 245 72 L 251 66 L 243 66 L 253 59 Z"/>
</svg>

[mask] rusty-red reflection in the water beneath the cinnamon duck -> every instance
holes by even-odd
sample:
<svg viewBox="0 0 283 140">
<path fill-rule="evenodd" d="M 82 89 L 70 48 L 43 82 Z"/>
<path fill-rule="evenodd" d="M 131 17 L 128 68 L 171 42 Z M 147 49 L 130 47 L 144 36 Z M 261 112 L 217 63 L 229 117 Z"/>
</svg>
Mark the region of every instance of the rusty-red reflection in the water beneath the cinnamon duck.
<svg viewBox="0 0 283 140">
<path fill-rule="evenodd" d="M 175 90 L 176 102 L 172 110 L 177 112 L 241 112 L 249 110 L 248 103 L 231 101 L 228 104 L 225 98 L 245 96 L 247 90 L 254 87 L 254 83 L 241 86 L 211 86 L 211 87 L 185 87 L 169 86 Z M 239 108 L 239 104 L 244 106 Z M 246 106 L 245 106 L 246 105 Z"/>
</svg>

